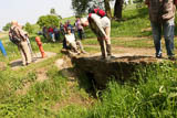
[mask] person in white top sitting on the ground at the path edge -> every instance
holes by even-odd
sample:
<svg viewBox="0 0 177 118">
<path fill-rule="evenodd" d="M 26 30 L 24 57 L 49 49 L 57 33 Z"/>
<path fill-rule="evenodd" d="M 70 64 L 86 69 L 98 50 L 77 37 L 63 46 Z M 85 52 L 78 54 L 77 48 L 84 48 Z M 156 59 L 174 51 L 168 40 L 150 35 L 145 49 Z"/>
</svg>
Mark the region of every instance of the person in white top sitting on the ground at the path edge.
<svg viewBox="0 0 177 118">
<path fill-rule="evenodd" d="M 66 46 L 67 49 L 71 49 L 71 51 L 74 51 L 75 53 L 80 54 L 80 53 L 86 53 L 84 51 L 84 47 L 81 43 L 81 41 L 76 41 L 75 40 L 75 35 L 74 33 L 72 33 L 72 28 L 67 28 L 66 30 L 66 34 L 65 34 L 65 41 L 66 41 Z"/>
</svg>

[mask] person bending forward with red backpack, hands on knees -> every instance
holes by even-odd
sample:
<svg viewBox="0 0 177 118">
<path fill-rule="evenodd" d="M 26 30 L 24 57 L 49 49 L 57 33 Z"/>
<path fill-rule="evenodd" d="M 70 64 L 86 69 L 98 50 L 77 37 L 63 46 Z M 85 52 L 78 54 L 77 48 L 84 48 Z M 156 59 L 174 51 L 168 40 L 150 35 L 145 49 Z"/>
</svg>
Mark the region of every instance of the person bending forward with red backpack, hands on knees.
<svg viewBox="0 0 177 118">
<path fill-rule="evenodd" d="M 88 18 L 82 18 L 83 26 L 88 26 L 96 34 L 101 45 L 102 58 L 112 58 L 111 50 L 111 20 L 105 12 L 98 8 L 88 10 Z"/>
</svg>

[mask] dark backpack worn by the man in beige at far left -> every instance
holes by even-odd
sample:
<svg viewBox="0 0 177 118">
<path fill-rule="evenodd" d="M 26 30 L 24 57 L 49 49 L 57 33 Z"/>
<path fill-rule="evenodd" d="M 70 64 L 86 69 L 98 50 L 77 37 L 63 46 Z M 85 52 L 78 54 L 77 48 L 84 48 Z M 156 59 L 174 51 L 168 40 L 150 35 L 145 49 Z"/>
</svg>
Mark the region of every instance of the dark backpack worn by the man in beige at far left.
<svg viewBox="0 0 177 118">
<path fill-rule="evenodd" d="M 10 33 L 12 35 L 12 36 L 10 36 L 10 41 L 14 44 L 19 44 L 21 42 L 21 39 L 18 37 L 19 31 L 17 32 L 15 29 L 17 29 L 17 26 L 14 26 L 13 29 L 10 28 Z"/>
</svg>

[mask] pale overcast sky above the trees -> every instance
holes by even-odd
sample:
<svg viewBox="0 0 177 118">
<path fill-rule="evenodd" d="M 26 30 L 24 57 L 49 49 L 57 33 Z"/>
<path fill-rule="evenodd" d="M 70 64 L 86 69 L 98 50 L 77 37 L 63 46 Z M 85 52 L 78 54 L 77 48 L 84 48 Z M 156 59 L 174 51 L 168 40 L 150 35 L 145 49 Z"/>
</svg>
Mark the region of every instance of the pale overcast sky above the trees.
<svg viewBox="0 0 177 118">
<path fill-rule="evenodd" d="M 20 24 L 35 23 L 38 18 L 54 8 L 62 18 L 73 15 L 71 0 L 1 0 L 0 31 L 8 22 L 17 20 Z"/>
</svg>

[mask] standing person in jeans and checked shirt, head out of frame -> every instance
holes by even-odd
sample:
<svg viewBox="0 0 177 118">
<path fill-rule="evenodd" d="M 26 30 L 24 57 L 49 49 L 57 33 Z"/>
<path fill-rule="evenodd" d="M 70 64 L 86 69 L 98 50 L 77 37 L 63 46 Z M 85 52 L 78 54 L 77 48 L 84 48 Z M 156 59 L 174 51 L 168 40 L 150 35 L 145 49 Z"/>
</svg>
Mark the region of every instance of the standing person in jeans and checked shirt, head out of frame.
<svg viewBox="0 0 177 118">
<path fill-rule="evenodd" d="M 162 32 L 164 32 L 165 45 L 169 60 L 175 60 L 174 29 L 177 0 L 146 0 L 149 20 L 153 29 L 153 39 L 156 49 L 156 57 L 162 58 Z"/>
</svg>

